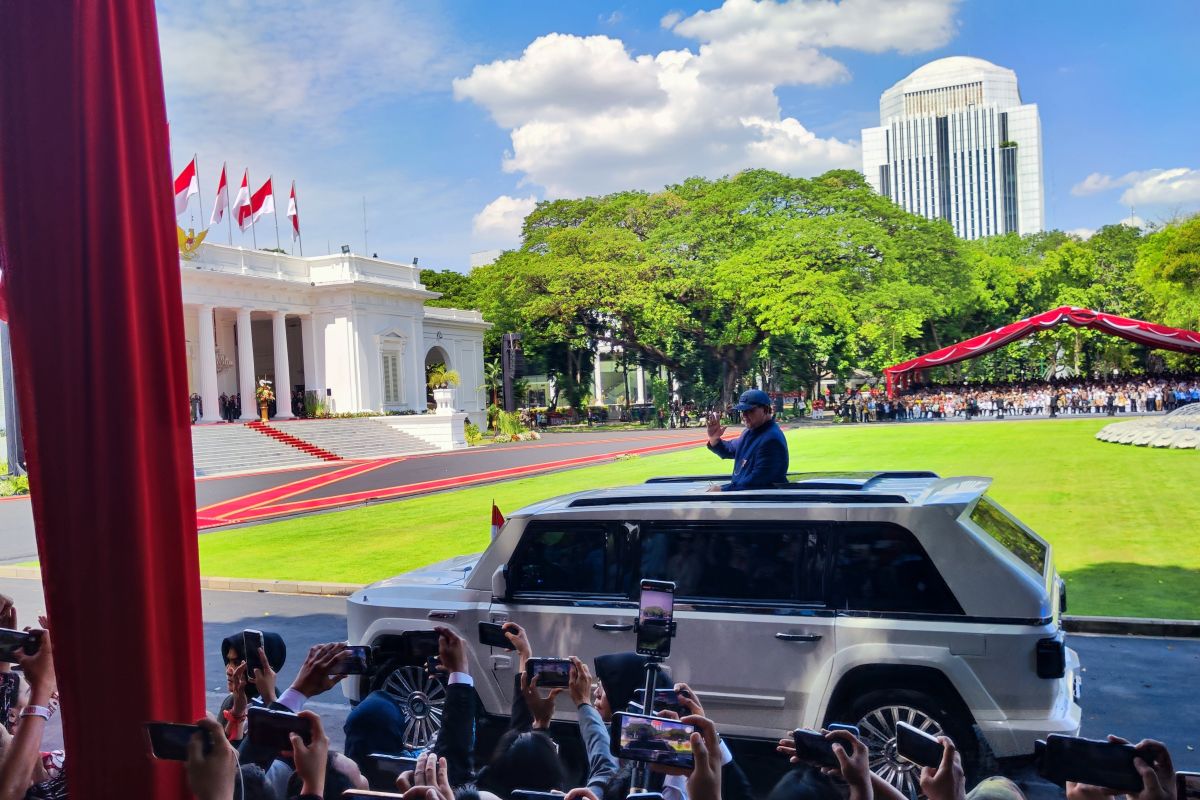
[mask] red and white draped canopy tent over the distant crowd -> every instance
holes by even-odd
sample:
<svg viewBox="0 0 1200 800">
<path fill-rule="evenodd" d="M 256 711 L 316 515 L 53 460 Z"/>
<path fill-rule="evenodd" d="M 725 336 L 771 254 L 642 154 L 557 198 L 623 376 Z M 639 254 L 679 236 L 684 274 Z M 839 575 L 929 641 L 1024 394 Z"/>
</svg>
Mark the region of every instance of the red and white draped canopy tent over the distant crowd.
<svg viewBox="0 0 1200 800">
<path fill-rule="evenodd" d="M 901 387 L 908 385 L 912 374 L 918 369 L 942 367 L 948 363 L 974 359 L 984 353 L 991 353 L 997 348 L 1010 344 L 1016 339 L 1025 338 L 1030 333 L 1049 330 L 1063 323 L 1073 327 L 1091 327 L 1151 348 L 1200 354 L 1200 332 L 1156 325 L 1154 323 L 1117 317 L 1116 314 L 1105 314 L 1090 308 L 1061 306 L 1054 311 L 1046 311 L 997 327 L 994 331 L 976 336 L 966 342 L 950 344 L 941 350 L 934 350 L 932 353 L 926 353 L 925 355 L 919 355 L 916 359 L 888 367 L 883 371 L 888 379 L 888 397 L 892 396 L 898 384 Z"/>
</svg>

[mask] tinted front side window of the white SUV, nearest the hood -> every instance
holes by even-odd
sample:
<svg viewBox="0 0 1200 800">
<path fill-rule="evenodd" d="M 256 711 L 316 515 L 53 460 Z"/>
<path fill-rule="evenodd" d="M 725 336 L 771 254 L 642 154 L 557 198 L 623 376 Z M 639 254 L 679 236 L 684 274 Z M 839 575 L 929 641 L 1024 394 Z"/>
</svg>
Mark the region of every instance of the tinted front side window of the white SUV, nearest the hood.
<svg viewBox="0 0 1200 800">
<path fill-rule="evenodd" d="M 619 594 L 623 542 L 605 522 L 530 522 L 509 561 L 509 590 Z"/>
</svg>

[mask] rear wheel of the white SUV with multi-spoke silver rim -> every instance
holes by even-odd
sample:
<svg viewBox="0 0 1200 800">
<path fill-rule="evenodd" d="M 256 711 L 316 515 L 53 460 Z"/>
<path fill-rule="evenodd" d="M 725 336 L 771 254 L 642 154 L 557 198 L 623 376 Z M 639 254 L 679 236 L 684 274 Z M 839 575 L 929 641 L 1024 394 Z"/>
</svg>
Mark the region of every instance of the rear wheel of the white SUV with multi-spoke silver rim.
<svg viewBox="0 0 1200 800">
<path fill-rule="evenodd" d="M 962 759 L 962 769 L 973 774 L 976 740 L 970 726 L 961 722 L 937 698 L 912 690 L 868 692 L 842 718 L 853 720 L 869 751 L 871 771 L 908 798 L 920 796 L 920 768 L 896 753 L 896 722 L 924 730 L 931 736 L 949 736 Z"/>
</svg>

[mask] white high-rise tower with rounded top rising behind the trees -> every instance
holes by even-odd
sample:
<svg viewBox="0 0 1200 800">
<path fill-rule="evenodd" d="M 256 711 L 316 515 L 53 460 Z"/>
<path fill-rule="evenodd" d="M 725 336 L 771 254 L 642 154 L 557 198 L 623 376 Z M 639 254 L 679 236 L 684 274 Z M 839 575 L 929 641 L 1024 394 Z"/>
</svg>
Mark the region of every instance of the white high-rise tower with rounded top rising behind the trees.
<svg viewBox="0 0 1200 800">
<path fill-rule="evenodd" d="M 880 96 L 863 130 L 863 174 L 880 194 L 962 239 L 1042 230 L 1042 124 L 1016 73 L 983 59 L 931 61 Z"/>
</svg>

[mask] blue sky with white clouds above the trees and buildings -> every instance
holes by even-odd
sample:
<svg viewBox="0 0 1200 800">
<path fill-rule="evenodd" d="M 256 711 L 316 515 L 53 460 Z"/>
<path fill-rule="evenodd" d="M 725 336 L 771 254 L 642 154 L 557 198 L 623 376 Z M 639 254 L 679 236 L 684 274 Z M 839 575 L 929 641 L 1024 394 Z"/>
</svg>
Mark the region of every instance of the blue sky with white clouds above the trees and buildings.
<svg viewBox="0 0 1200 800">
<path fill-rule="evenodd" d="M 181 222 L 208 222 L 222 162 L 234 191 L 245 168 L 252 190 L 272 175 L 281 215 L 295 179 L 308 255 L 348 243 L 464 271 L 472 252 L 516 246 L 540 199 L 860 169 L 880 94 L 947 55 L 1014 70 L 1038 104 L 1048 227 L 1200 209 L 1194 0 L 160 0 L 158 13 L 173 162 L 199 155 L 208 206 L 193 198 Z M 275 243 L 272 224 L 257 233 Z"/>
</svg>

